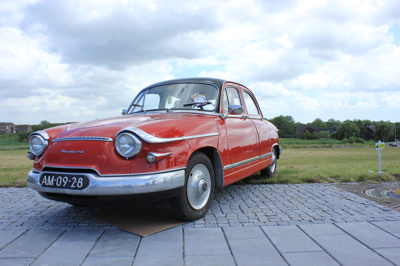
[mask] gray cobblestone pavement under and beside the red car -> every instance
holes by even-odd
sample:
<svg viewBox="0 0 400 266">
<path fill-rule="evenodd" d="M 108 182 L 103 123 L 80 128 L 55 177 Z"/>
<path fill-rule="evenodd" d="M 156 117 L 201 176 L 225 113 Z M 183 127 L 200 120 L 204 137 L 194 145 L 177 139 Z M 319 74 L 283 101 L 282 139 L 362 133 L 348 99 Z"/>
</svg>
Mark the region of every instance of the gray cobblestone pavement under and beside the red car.
<svg viewBox="0 0 400 266">
<path fill-rule="evenodd" d="M 88 215 L 123 206 L 74 207 L 29 188 L 0 189 L 0 229 L 115 228 Z M 147 206 L 169 209 L 168 201 Z M 242 227 L 400 221 L 400 213 L 326 184 L 228 185 L 218 189 L 204 219 L 191 227 Z"/>
</svg>

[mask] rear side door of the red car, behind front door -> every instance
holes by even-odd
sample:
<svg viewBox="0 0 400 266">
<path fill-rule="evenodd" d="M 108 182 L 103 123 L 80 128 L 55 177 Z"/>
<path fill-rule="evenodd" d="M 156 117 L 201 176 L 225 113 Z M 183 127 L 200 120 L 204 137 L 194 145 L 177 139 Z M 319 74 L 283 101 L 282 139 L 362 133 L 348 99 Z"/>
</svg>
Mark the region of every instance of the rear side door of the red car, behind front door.
<svg viewBox="0 0 400 266">
<path fill-rule="evenodd" d="M 246 88 L 242 87 L 242 95 L 244 108 L 254 126 L 257 129 L 258 139 L 260 140 L 260 158 L 266 161 L 268 166 L 271 160 L 271 145 L 270 145 L 270 125 L 267 120 L 262 117 L 261 110 L 256 102 L 254 95 Z"/>
</svg>

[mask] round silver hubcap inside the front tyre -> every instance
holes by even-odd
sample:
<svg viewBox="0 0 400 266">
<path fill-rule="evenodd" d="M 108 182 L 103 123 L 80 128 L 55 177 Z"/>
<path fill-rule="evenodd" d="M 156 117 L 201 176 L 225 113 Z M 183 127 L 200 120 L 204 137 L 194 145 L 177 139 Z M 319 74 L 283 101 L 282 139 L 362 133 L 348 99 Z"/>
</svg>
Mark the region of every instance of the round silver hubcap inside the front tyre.
<svg viewBox="0 0 400 266">
<path fill-rule="evenodd" d="M 186 186 L 186 195 L 190 206 L 199 210 L 206 206 L 210 197 L 211 177 L 208 169 L 203 164 L 198 164 L 189 173 Z"/>
</svg>

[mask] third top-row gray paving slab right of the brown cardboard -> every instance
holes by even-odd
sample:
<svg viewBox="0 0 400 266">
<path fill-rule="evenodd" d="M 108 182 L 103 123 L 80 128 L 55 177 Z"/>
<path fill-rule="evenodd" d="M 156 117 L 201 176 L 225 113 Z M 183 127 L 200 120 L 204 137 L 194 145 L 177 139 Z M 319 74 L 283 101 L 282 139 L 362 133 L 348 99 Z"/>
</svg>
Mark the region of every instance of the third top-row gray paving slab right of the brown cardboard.
<svg viewBox="0 0 400 266">
<path fill-rule="evenodd" d="M 267 234 L 280 252 L 320 251 L 315 242 L 295 225 L 263 226 Z"/>
</svg>

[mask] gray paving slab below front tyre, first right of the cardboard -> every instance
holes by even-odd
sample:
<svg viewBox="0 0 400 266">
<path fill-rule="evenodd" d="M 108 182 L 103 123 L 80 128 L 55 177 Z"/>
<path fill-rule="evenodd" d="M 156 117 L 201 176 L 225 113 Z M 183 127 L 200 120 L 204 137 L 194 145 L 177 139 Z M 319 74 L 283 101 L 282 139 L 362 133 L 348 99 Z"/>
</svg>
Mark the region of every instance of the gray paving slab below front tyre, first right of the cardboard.
<svg viewBox="0 0 400 266">
<path fill-rule="evenodd" d="M 185 258 L 191 255 L 230 254 L 221 228 L 185 228 Z"/>
</svg>

